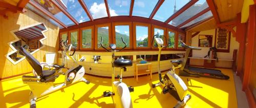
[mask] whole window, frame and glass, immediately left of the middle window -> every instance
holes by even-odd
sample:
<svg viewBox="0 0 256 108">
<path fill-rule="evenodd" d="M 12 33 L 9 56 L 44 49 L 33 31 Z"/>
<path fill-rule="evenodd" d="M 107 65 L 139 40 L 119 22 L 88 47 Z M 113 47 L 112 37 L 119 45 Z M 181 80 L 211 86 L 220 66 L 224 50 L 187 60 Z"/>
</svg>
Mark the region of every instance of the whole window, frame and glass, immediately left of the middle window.
<svg viewBox="0 0 256 108">
<path fill-rule="evenodd" d="M 101 37 L 102 37 L 102 45 L 105 47 L 105 48 L 108 48 L 109 47 L 109 44 L 111 42 L 110 40 L 110 24 L 103 24 L 103 25 L 96 25 L 95 28 L 96 28 L 96 49 L 102 49 L 101 48 L 101 45 L 100 45 L 100 42 L 101 42 Z"/>
</svg>

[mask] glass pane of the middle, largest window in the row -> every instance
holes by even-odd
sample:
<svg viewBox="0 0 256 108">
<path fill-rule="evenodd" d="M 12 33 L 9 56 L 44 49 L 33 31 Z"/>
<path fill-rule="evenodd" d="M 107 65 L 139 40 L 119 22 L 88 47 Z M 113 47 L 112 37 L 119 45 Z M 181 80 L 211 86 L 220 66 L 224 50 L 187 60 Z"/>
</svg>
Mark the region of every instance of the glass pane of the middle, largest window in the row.
<svg viewBox="0 0 256 108">
<path fill-rule="evenodd" d="M 123 48 L 124 42 L 126 42 L 127 47 L 130 47 L 130 34 L 129 34 L 129 26 L 115 26 L 116 31 L 116 46 L 117 48 Z"/>
</svg>

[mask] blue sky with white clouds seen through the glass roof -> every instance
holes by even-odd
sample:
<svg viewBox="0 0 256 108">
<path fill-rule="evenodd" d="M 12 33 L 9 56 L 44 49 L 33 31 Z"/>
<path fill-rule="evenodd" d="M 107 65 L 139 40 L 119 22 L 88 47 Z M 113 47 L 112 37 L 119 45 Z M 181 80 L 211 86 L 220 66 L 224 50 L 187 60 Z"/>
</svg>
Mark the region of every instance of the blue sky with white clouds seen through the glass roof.
<svg viewBox="0 0 256 108">
<path fill-rule="evenodd" d="M 67 7 L 67 11 L 78 21 L 78 23 L 90 20 L 77 0 L 61 1 Z M 86 3 L 94 19 L 108 16 L 106 13 L 104 0 L 83 1 Z M 190 0 L 176 0 L 176 10 L 181 9 L 189 1 Z M 132 14 L 134 16 L 149 17 L 157 2 L 158 0 L 135 0 Z M 204 2 L 205 0 L 199 0 L 196 4 L 203 4 Z M 131 0 L 108 0 L 108 4 L 111 16 L 129 15 Z M 174 4 L 175 0 L 165 0 L 153 19 L 165 21 L 168 17 L 174 14 Z M 59 12 L 54 16 L 56 16 L 60 21 L 68 26 L 74 25 L 73 21 L 71 21 L 62 12 Z M 124 30 L 122 31 L 121 28 L 120 32 L 124 33 Z"/>
</svg>

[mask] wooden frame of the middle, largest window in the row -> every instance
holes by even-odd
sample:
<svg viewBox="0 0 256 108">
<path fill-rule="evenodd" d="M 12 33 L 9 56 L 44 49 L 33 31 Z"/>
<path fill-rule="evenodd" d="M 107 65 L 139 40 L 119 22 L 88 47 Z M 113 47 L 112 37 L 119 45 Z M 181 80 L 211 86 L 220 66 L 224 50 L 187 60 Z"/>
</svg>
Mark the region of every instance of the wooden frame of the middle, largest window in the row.
<svg viewBox="0 0 256 108">
<path fill-rule="evenodd" d="M 116 26 L 129 26 L 130 47 L 126 47 L 125 49 L 133 49 L 133 41 L 132 41 L 133 40 L 133 35 L 132 35 L 133 27 L 132 27 L 132 22 L 113 22 L 112 23 L 112 41 L 113 41 L 113 44 L 116 44 Z M 117 48 L 117 49 L 121 49 L 121 48 Z"/>
</svg>

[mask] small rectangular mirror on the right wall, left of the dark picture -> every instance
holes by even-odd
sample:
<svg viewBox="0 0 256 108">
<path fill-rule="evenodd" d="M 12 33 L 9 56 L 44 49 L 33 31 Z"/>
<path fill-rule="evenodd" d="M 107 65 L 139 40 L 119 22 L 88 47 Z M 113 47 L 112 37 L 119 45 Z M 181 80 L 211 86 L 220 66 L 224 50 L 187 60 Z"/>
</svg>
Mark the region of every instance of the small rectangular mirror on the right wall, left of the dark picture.
<svg viewBox="0 0 256 108">
<path fill-rule="evenodd" d="M 211 47 L 212 35 L 199 35 L 198 47 Z"/>
</svg>

